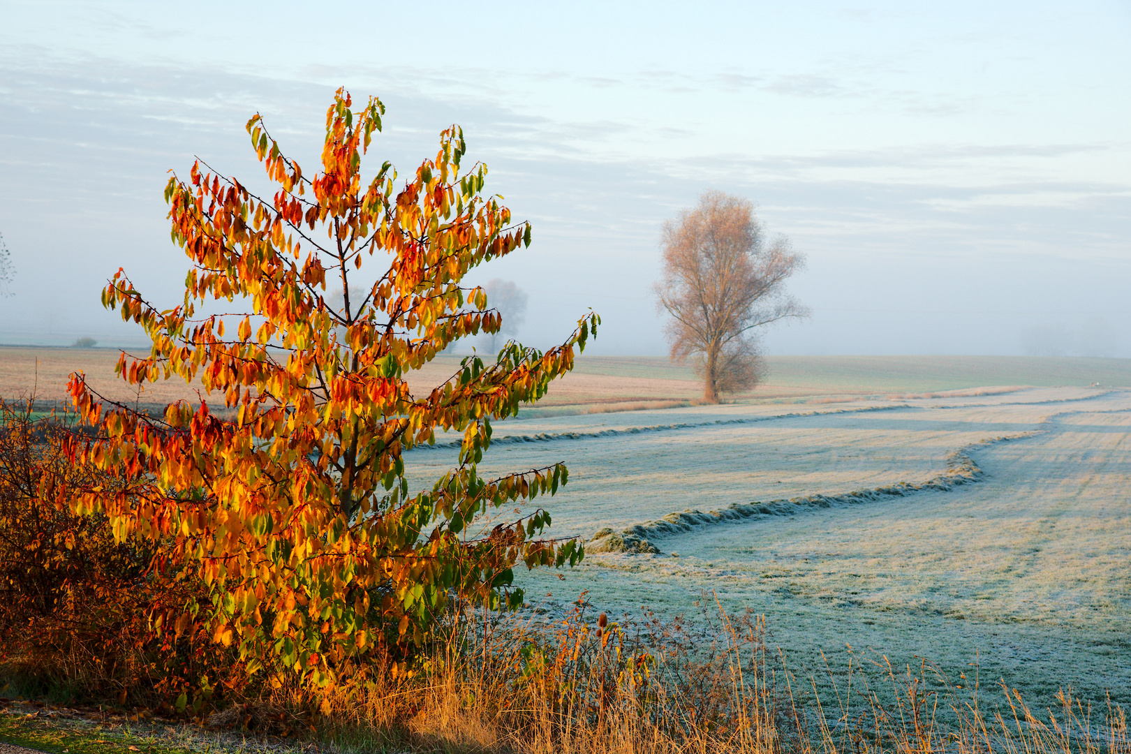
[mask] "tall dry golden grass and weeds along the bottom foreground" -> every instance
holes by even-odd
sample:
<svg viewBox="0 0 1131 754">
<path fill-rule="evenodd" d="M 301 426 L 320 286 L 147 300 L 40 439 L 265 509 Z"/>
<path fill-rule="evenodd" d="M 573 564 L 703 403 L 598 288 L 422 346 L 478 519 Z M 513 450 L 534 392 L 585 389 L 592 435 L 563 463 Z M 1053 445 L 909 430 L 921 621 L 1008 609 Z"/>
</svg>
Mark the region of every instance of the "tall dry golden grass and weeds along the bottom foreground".
<svg viewBox="0 0 1131 754">
<path fill-rule="evenodd" d="M 767 644 L 761 618 L 720 607 L 713 640 L 679 619 L 608 623 L 585 603 L 549 629 L 474 610 L 454 618 L 411 677 L 359 670 L 352 690 L 320 702 L 283 686 L 274 702 L 319 703 L 320 735 L 345 751 L 1131 754 L 1124 711 L 1093 710 L 1070 690 L 1038 711 L 1005 686 L 940 691 L 926 662 L 865 673 L 851 658 L 848 686 L 820 692 Z"/>
</svg>

